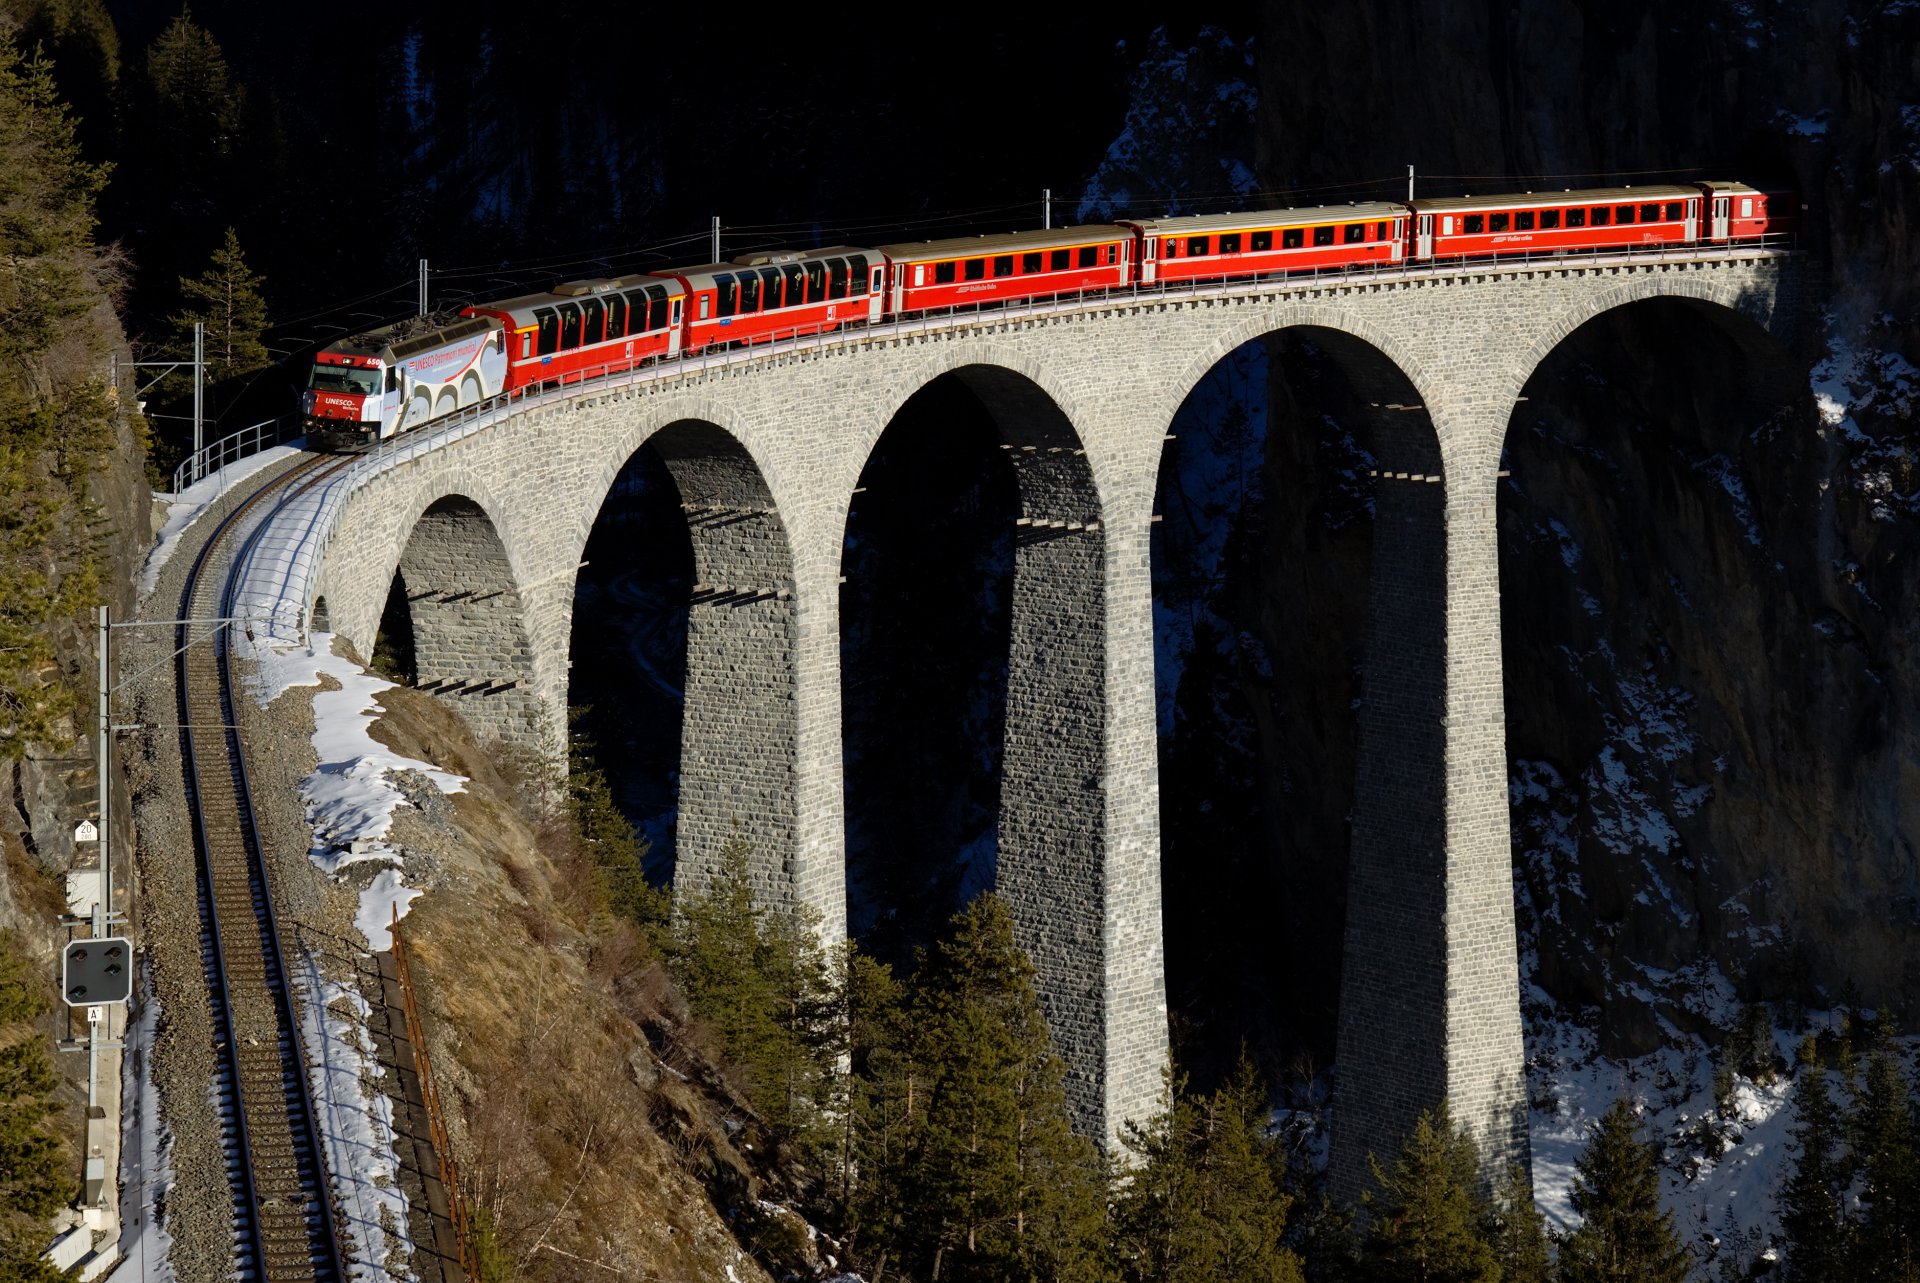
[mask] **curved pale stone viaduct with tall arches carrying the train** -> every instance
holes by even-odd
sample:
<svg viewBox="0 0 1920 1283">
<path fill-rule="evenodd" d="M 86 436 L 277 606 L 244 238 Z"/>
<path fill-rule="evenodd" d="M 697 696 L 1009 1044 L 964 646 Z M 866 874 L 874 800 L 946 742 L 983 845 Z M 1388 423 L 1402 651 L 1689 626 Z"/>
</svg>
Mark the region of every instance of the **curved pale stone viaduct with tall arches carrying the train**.
<svg viewBox="0 0 1920 1283">
<path fill-rule="evenodd" d="M 1373 401 L 1380 463 L 1340 983 L 1336 1185 L 1446 1097 L 1526 1158 L 1496 476 L 1515 399 L 1601 311 L 1693 300 L 1789 340 L 1791 255 L 1405 269 L 1114 294 L 851 330 L 641 371 L 399 438 L 275 517 L 244 611 L 371 653 L 396 570 L 419 682 L 559 751 L 574 574 L 651 444 L 695 549 L 680 876 L 753 841 L 768 901 L 845 932 L 839 576 L 879 434 L 935 378 L 998 424 L 1020 484 L 996 884 L 1039 966 L 1083 1126 L 1146 1116 L 1167 1053 L 1148 532 L 1175 409 L 1229 351 L 1304 327 Z M 1772 340 L 1768 340 L 1772 334 Z M 1774 346 L 1776 357 L 1784 353 Z M 1490 1168 L 1498 1170 L 1498 1168 Z"/>
</svg>

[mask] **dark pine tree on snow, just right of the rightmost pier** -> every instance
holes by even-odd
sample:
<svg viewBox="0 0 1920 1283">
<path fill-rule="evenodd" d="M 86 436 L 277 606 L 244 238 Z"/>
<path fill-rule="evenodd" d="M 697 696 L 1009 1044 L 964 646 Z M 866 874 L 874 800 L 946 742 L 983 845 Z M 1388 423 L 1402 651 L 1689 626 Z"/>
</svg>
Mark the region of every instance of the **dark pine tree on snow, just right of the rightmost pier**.
<svg viewBox="0 0 1920 1283">
<path fill-rule="evenodd" d="M 1561 1283 L 1686 1283 L 1693 1256 L 1661 1212 L 1659 1158 L 1630 1101 L 1613 1102 L 1580 1154 L 1572 1210 L 1584 1220 L 1561 1245 Z"/>
</svg>

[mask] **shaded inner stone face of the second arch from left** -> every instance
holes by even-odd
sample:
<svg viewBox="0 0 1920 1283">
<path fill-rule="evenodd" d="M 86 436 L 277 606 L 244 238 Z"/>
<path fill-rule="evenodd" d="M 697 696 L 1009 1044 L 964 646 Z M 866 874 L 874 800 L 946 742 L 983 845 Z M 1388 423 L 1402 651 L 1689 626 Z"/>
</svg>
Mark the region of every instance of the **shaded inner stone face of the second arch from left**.
<svg viewBox="0 0 1920 1283">
<path fill-rule="evenodd" d="M 672 478 L 693 547 L 676 893 L 708 885 L 728 843 L 745 841 L 755 893 L 762 903 L 789 905 L 799 895 L 801 749 L 799 603 L 787 526 L 758 459 L 705 417 L 678 417 L 622 440 L 595 494 L 607 496 L 641 448 L 653 449 Z M 597 511 L 586 515 L 582 547 Z"/>
</svg>

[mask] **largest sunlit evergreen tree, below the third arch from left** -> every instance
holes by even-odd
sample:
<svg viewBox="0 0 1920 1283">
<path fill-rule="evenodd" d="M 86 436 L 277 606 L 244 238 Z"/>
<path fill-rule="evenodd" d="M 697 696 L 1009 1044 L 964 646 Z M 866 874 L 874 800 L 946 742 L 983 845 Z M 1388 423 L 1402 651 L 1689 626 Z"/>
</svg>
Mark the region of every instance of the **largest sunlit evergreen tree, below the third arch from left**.
<svg viewBox="0 0 1920 1283">
<path fill-rule="evenodd" d="M 887 1149 L 862 1162 L 891 1198 L 864 1200 L 870 1260 L 916 1283 L 1110 1279 L 1100 1156 L 1068 1126 L 1033 964 L 995 895 L 954 918 L 906 1010 L 874 1091 Z"/>
</svg>

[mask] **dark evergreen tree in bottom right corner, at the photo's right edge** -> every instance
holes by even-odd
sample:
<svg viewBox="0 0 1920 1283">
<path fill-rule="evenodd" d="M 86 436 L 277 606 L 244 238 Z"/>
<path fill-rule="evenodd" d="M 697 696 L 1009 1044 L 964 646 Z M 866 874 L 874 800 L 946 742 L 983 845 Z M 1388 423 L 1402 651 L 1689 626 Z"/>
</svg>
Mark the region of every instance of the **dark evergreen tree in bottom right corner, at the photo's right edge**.
<svg viewBox="0 0 1920 1283">
<path fill-rule="evenodd" d="M 1920 1162 L 1891 1028 L 1887 1012 L 1874 1022 L 1849 1126 L 1860 1181 L 1851 1273 L 1872 1283 L 1912 1283 L 1920 1279 Z"/>
</svg>

